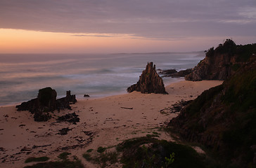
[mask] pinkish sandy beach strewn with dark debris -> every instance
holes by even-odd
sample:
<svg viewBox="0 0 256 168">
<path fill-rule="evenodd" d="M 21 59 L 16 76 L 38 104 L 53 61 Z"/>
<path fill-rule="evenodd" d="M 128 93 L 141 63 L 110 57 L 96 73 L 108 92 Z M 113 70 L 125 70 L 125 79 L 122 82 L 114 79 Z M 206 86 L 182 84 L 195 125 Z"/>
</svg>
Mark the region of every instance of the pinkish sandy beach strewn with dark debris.
<svg viewBox="0 0 256 168">
<path fill-rule="evenodd" d="M 141 94 L 132 92 L 101 99 L 79 100 L 72 110 L 54 111 L 51 120 L 35 122 L 28 111 L 17 111 L 15 106 L 0 107 L 0 167 L 25 167 L 30 157 L 48 156 L 58 160 L 63 152 L 76 155 L 85 167 L 99 167 L 82 158 L 89 149 L 110 147 L 125 139 L 143 137 L 158 132 L 160 139 L 172 141 L 159 127 L 165 126 L 178 113 L 160 113 L 172 104 L 196 99 L 204 90 L 220 85 L 219 80 L 192 82 L 182 80 L 166 86 L 169 94 Z M 75 112 L 80 121 L 57 123 L 56 118 Z M 59 130 L 68 128 L 65 135 Z M 121 167 L 114 165 L 113 167 Z"/>
</svg>

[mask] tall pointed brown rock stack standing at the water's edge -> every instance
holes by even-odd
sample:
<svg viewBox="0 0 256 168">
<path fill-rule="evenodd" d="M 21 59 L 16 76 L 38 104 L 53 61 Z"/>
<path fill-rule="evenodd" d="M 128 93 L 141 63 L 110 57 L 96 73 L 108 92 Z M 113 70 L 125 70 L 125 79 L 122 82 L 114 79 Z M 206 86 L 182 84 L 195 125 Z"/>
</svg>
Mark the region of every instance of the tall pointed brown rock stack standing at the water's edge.
<svg viewBox="0 0 256 168">
<path fill-rule="evenodd" d="M 168 94 L 165 91 L 165 85 L 162 81 L 162 78 L 155 71 L 155 65 L 153 62 L 147 64 L 146 69 L 141 73 L 139 81 L 128 87 L 127 92 L 141 92 L 141 93 L 160 93 Z"/>
</svg>

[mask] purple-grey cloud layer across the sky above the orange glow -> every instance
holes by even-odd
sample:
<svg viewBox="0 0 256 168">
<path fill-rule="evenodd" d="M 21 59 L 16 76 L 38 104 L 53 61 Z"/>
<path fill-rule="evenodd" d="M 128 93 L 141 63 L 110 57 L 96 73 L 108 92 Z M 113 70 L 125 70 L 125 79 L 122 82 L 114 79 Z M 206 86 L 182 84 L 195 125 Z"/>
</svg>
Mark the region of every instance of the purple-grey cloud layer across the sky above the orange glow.
<svg viewBox="0 0 256 168">
<path fill-rule="evenodd" d="M 172 39 L 255 36 L 255 0 L 1 0 L 0 28 Z"/>
</svg>

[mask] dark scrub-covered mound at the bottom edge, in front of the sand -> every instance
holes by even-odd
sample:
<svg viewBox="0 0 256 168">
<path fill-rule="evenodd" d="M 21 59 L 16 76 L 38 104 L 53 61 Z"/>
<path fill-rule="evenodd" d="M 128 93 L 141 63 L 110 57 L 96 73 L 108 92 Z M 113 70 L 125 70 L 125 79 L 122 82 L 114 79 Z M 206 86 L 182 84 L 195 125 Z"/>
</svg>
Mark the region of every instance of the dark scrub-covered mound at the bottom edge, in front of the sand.
<svg viewBox="0 0 256 168">
<path fill-rule="evenodd" d="M 112 151 L 84 153 L 83 157 L 101 167 L 122 163 L 122 167 L 215 167 L 205 155 L 198 154 L 190 146 L 153 137 L 127 139 Z"/>
</svg>

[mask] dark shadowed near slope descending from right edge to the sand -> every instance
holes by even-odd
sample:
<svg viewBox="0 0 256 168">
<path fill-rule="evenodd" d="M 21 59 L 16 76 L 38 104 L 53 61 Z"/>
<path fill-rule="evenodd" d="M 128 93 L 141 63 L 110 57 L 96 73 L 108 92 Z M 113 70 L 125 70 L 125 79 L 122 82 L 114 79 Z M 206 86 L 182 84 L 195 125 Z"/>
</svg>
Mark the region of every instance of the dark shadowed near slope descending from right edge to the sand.
<svg viewBox="0 0 256 168">
<path fill-rule="evenodd" d="M 222 85 L 203 92 L 169 125 L 227 165 L 256 166 L 256 55 Z"/>
</svg>

